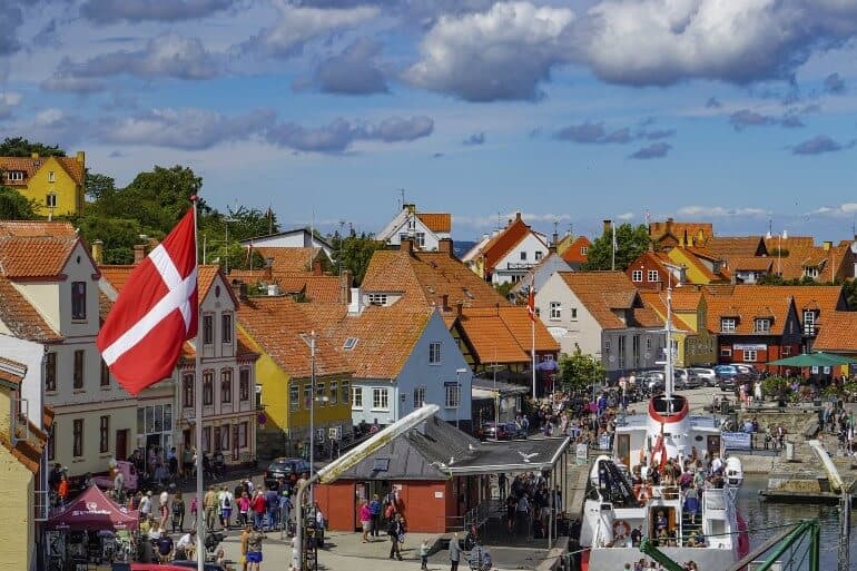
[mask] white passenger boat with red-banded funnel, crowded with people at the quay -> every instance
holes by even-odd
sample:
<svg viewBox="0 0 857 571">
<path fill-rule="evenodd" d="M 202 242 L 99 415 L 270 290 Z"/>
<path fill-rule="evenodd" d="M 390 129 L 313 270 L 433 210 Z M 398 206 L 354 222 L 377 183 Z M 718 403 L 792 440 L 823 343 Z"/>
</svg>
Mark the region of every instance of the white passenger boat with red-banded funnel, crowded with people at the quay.
<svg viewBox="0 0 857 571">
<path fill-rule="evenodd" d="M 633 567 L 646 555 L 632 545 L 631 532 L 639 528 L 643 536 L 657 538 L 659 518 L 666 519 L 672 540 L 661 541 L 658 549 L 680 564 L 695 561 L 699 569 L 728 569 L 746 555 L 749 538 L 735 501 L 743 480 L 737 457 L 723 464 L 723 486 L 702 492 L 695 518 L 683 511 L 678 485 L 634 488 L 631 483 L 630 474 L 643 463 L 663 465 L 667 459 L 683 462 L 706 453 L 711 459 L 721 456 L 720 426 L 713 416 L 690 415 L 687 400 L 679 394 L 657 395 L 649 401 L 647 414 L 620 419 L 613 455 L 599 456 L 590 472 L 580 535 L 581 547 L 590 549 L 583 552 L 582 569 Z M 699 532 L 703 547 L 691 547 Z"/>
</svg>

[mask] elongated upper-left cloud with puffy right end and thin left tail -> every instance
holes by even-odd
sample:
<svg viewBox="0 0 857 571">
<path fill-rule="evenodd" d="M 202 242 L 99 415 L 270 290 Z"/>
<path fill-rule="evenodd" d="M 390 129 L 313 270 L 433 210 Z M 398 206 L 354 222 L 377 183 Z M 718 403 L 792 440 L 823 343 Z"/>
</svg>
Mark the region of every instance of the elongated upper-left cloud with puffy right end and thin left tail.
<svg viewBox="0 0 857 571">
<path fill-rule="evenodd" d="M 141 78 L 210 79 L 223 71 L 223 58 L 196 38 L 162 33 L 137 51 L 112 51 L 75 63 L 63 59 L 57 72 L 42 82 L 53 91 L 90 92 L 106 87 L 98 78 L 129 73 Z"/>
</svg>

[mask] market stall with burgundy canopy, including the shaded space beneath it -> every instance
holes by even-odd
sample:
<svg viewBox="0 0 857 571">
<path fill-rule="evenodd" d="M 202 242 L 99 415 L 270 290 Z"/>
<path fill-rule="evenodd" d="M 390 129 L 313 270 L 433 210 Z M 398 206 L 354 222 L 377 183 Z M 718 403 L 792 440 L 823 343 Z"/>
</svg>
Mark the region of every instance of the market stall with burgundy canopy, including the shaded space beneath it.
<svg viewBox="0 0 857 571">
<path fill-rule="evenodd" d="M 92 485 L 45 524 L 51 570 L 87 571 L 90 565 L 128 561 L 139 515 Z"/>
</svg>

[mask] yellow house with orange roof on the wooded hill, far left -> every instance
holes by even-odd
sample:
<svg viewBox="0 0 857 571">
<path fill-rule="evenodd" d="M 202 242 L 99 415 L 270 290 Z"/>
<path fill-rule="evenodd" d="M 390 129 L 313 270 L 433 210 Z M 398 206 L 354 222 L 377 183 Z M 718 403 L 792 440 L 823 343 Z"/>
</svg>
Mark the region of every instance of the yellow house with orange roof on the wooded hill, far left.
<svg viewBox="0 0 857 571">
<path fill-rule="evenodd" d="M 42 216 L 77 215 L 83 210 L 86 154 L 73 157 L 0 157 L 0 184 L 31 199 Z"/>
</svg>

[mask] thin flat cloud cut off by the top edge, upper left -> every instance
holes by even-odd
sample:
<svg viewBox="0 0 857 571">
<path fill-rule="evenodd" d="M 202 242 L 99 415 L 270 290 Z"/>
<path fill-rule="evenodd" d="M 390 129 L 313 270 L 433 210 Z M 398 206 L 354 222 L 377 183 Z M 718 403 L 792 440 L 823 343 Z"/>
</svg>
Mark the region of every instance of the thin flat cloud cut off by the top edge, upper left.
<svg viewBox="0 0 857 571">
<path fill-rule="evenodd" d="M 193 20 L 237 4 L 236 0 L 87 0 L 83 18 L 98 23 Z"/>
</svg>

